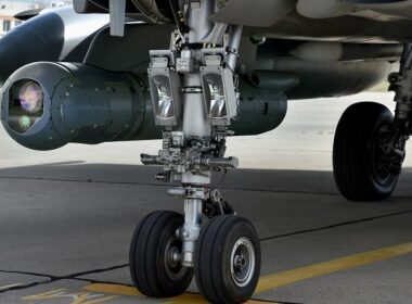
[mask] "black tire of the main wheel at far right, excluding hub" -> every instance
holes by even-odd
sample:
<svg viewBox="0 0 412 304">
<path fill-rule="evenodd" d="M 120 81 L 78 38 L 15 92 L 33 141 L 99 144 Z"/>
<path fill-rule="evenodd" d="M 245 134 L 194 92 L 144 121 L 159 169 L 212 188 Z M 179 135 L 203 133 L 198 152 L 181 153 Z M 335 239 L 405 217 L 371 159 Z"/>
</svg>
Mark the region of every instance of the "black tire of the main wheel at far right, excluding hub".
<svg viewBox="0 0 412 304">
<path fill-rule="evenodd" d="M 336 129 L 333 168 L 336 186 L 350 201 L 379 201 L 392 194 L 399 175 L 376 173 L 375 142 L 383 127 L 390 127 L 390 111 L 375 102 L 349 106 Z"/>
</svg>

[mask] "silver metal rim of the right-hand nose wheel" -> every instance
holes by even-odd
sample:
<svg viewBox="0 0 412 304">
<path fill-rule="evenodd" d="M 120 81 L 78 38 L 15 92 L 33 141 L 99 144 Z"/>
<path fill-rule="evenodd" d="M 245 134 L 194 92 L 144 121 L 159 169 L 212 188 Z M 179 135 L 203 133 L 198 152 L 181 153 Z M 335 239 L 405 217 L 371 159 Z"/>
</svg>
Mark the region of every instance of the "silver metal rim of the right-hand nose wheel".
<svg viewBox="0 0 412 304">
<path fill-rule="evenodd" d="M 255 249 L 250 239 L 240 238 L 233 245 L 230 258 L 232 279 L 237 287 L 245 287 L 252 281 L 255 265 Z"/>
</svg>

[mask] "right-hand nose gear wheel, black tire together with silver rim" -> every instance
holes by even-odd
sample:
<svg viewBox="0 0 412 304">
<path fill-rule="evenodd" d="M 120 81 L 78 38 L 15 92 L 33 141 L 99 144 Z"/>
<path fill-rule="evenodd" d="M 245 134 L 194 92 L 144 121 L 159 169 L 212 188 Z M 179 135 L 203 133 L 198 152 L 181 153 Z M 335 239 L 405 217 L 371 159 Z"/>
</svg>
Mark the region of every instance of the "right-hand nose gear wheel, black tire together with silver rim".
<svg viewBox="0 0 412 304">
<path fill-rule="evenodd" d="M 253 225 L 234 215 L 217 216 L 196 244 L 195 276 L 202 294 L 213 303 L 243 303 L 260 274 L 260 244 Z"/>
</svg>

